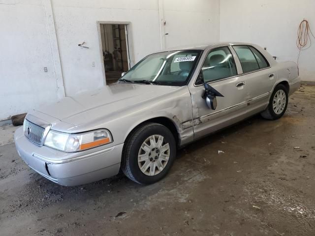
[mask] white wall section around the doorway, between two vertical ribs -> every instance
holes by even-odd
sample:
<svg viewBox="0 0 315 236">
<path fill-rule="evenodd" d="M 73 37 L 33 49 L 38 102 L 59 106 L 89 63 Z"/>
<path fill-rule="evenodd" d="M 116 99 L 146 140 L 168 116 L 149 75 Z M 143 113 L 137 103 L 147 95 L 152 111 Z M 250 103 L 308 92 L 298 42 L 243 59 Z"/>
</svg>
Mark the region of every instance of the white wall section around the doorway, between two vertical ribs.
<svg viewBox="0 0 315 236">
<path fill-rule="evenodd" d="M 135 61 L 159 49 L 156 0 L 52 0 L 52 6 L 67 96 L 104 86 L 97 21 L 130 22 Z M 78 47 L 83 41 L 89 49 Z"/>
</svg>

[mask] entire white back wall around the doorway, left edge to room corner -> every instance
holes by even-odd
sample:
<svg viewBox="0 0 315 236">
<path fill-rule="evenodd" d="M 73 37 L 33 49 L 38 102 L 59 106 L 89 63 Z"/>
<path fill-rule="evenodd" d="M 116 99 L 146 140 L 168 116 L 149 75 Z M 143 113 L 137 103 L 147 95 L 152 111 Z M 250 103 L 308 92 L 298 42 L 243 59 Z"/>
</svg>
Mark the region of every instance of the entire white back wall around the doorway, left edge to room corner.
<svg viewBox="0 0 315 236">
<path fill-rule="evenodd" d="M 66 96 L 104 86 L 96 22 L 129 23 L 136 63 L 218 41 L 219 0 L 0 0 L 0 120 L 56 102 L 61 81 Z"/>
</svg>

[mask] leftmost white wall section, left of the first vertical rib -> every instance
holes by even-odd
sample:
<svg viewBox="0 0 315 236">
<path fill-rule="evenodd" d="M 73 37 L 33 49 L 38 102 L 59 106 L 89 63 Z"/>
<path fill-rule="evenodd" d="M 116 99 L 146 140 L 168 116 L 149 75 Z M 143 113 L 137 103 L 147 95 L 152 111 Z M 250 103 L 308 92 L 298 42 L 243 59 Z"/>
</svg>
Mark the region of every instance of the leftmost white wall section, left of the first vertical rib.
<svg viewBox="0 0 315 236">
<path fill-rule="evenodd" d="M 42 0 L 0 0 L 0 120 L 57 100 Z"/>
</svg>

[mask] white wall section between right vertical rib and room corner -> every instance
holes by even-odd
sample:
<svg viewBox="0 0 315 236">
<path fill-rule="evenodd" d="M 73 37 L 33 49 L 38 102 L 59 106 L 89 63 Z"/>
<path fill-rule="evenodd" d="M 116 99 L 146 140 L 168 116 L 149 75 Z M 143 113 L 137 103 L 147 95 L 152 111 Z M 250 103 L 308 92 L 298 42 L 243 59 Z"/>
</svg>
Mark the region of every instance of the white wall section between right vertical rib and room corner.
<svg viewBox="0 0 315 236">
<path fill-rule="evenodd" d="M 219 41 L 220 0 L 164 0 L 165 47 Z"/>
</svg>

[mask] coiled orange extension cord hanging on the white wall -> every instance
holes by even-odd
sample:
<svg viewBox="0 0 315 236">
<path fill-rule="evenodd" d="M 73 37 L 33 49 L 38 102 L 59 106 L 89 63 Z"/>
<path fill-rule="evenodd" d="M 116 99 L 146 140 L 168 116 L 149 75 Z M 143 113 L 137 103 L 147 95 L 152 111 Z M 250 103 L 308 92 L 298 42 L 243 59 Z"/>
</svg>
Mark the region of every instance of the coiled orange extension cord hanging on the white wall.
<svg viewBox="0 0 315 236">
<path fill-rule="evenodd" d="M 297 40 L 296 40 L 296 46 L 299 49 L 299 56 L 297 59 L 297 64 L 299 64 L 299 59 L 300 59 L 300 53 L 302 50 L 306 50 L 312 46 L 312 40 L 311 40 L 311 35 L 313 38 L 315 38 L 311 28 L 310 24 L 307 20 L 303 20 L 300 23 L 300 26 L 297 30 Z"/>
</svg>

